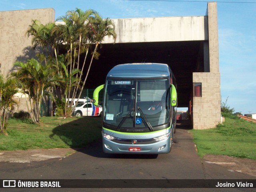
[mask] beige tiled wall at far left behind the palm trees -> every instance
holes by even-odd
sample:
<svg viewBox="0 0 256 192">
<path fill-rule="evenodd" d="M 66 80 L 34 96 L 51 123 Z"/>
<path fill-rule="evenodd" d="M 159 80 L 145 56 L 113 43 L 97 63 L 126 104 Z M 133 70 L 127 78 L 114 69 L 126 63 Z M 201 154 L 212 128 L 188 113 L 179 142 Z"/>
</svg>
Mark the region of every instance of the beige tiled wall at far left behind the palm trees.
<svg viewBox="0 0 256 192">
<path fill-rule="evenodd" d="M 25 36 L 32 20 L 39 20 L 42 24 L 54 22 L 55 11 L 46 8 L 0 12 L 0 70 L 4 77 L 15 70 L 14 62 L 27 62 L 35 57 L 31 38 Z M 17 99 L 20 100 L 18 110 L 27 110 L 25 99 Z"/>
</svg>

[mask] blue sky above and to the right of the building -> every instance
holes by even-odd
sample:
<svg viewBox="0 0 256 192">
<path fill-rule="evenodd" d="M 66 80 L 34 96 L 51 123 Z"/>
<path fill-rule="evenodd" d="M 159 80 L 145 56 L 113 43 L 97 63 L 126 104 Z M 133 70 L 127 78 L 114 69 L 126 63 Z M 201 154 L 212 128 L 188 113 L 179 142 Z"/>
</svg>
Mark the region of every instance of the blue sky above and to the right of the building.
<svg viewBox="0 0 256 192">
<path fill-rule="evenodd" d="M 235 112 L 256 113 L 256 0 L 215 0 L 218 12 L 222 102 Z M 54 8 L 96 10 L 103 18 L 204 16 L 204 0 L 1 0 L 0 11 Z"/>
</svg>

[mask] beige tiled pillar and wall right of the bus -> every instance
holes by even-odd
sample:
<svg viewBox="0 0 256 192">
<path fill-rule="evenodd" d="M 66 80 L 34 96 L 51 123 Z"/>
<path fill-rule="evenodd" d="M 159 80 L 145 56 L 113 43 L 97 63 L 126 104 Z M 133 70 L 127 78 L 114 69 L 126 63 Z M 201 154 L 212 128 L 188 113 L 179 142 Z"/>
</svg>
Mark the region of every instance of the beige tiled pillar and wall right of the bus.
<svg viewBox="0 0 256 192">
<path fill-rule="evenodd" d="M 193 128 L 214 128 L 221 121 L 220 71 L 217 3 L 208 2 L 210 72 L 193 73 L 193 82 L 202 83 L 202 96 L 193 97 Z"/>
</svg>

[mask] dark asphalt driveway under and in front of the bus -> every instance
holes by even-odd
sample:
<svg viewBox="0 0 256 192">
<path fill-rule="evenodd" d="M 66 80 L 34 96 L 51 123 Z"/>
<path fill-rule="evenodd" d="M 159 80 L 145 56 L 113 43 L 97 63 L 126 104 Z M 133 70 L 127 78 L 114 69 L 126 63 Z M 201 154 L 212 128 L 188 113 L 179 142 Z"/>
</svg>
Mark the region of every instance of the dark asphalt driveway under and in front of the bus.
<svg viewBox="0 0 256 192">
<path fill-rule="evenodd" d="M 169 154 L 122 155 L 104 154 L 102 143 L 96 142 L 66 157 L 40 162 L 0 164 L 1 179 L 256 179 L 230 172 L 228 168 L 200 159 L 186 127 L 176 129 Z M 1 189 L 1 191 L 134 191 L 127 188 L 86 189 Z M 168 189 L 146 191 L 255 191 L 254 189 Z M 136 191 L 145 191 L 144 188 Z"/>
</svg>

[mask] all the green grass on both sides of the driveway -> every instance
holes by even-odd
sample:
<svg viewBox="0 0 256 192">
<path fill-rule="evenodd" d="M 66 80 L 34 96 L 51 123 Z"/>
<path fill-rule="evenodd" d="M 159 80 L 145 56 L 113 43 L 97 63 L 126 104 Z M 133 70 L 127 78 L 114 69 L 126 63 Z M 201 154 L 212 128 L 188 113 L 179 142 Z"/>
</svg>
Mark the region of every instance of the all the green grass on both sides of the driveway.
<svg viewBox="0 0 256 192">
<path fill-rule="evenodd" d="M 42 117 L 40 125 L 29 120 L 8 121 L 8 136 L 0 134 L 1 150 L 36 148 L 81 148 L 99 140 L 102 119 L 98 117 Z M 208 130 L 191 130 L 199 156 L 221 154 L 256 160 L 256 124 L 225 115 L 224 124 Z"/>
</svg>

